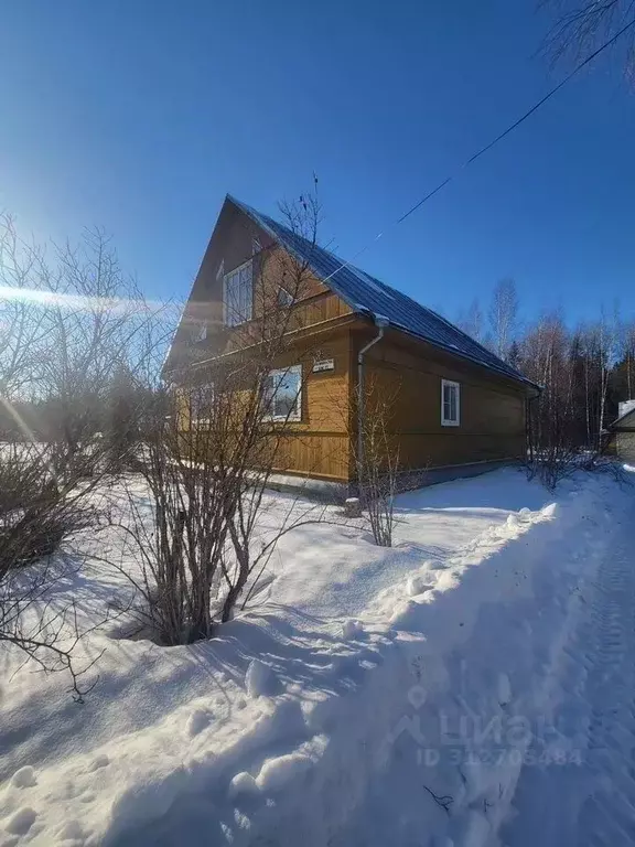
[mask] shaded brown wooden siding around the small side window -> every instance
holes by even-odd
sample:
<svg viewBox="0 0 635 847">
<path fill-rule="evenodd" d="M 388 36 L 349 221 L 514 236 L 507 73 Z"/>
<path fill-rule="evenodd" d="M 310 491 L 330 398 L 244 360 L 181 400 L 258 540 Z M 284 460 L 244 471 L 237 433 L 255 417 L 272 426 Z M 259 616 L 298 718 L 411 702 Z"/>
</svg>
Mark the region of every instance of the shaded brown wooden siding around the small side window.
<svg viewBox="0 0 635 847">
<path fill-rule="evenodd" d="M 372 336 L 356 333 L 355 350 Z M 523 455 L 526 399 L 520 386 L 396 333 L 387 333 L 365 358 L 368 393 L 390 404 L 389 430 L 403 470 Z M 442 379 L 461 386 L 458 427 L 441 425 Z"/>
</svg>

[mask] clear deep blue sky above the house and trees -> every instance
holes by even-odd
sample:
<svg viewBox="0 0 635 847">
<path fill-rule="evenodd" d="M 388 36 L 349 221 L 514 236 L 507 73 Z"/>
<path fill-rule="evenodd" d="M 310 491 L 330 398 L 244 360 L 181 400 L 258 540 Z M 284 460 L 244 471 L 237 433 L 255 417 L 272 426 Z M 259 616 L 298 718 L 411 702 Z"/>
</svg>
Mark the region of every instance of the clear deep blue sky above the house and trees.
<svg viewBox="0 0 635 847">
<path fill-rule="evenodd" d="M 600 61 L 542 96 L 535 0 L 20 0 L 0 28 L 0 205 L 100 225 L 153 298 L 186 297 L 226 192 L 311 184 L 322 240 L 450 318 L 513 276 L 524 311 L 635 314 L 635 92 Z"/>
</svg>

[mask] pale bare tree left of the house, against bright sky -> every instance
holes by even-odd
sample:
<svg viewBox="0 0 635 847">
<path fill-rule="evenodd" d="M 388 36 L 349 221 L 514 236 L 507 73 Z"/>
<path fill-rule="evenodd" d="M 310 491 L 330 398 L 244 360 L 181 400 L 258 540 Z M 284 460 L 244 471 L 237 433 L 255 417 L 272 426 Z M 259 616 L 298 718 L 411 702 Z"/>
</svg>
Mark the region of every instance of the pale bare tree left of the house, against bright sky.
<svg viewBox="0 0 635 847">
<path fill-rule="evenodd" d="M 103 436 L 112 424 L 108 410 L 115 390 L 121 394 L 125 375 L 128 398 L 134 396 L 151 354 L 149 331 L 164 350 L 162 319 L 169 307 L 146 301 L 101 230 L 87 230 L 78 247 L 57 248 L 56 260 L 40 385 L 52 460 L 63 475 L 76 464 L 93 470 L 105 448 L 114 446 Z"/>
</svg>

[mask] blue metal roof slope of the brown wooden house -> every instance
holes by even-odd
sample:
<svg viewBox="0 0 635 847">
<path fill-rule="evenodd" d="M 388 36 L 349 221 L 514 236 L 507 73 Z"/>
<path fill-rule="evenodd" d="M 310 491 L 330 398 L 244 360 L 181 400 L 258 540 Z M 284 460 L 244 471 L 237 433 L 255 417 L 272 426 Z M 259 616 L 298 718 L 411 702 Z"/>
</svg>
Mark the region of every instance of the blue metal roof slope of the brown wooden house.
<svg viewBox="0 0 635 847">
<path fill-rule="evenodd" d="M 305 261 L 354 312 L 381 317 L 390 326 L 423 339 L 435 347 L 474 362 L 502 376 L 538 387 L 437 312 L 360 268 L 343 261 L 333 253 L 309 242 L 278 221 L 257 212 L 229 194 L 227 199 L 297 259 Z"/>
</svg>

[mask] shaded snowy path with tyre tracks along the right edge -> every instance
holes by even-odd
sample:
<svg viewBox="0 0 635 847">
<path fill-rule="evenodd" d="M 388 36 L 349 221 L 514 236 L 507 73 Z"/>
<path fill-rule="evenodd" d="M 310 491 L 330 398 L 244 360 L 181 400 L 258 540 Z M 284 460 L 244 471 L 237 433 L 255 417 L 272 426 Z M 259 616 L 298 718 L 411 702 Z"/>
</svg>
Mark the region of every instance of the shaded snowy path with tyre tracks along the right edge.
<svg viewBox="0 0 635 847">
<path fill-rule="evenodd" d="M 633 514 L 635 517 L 635 513 Z M 501 833 L 506 847 L 635 844 L 635 556 L 624 524 L 593 583 L 563 656 L 561 737 L 534 749 Z M 562 762 L 563 763 L 559 763 Z"/>
</svg>

